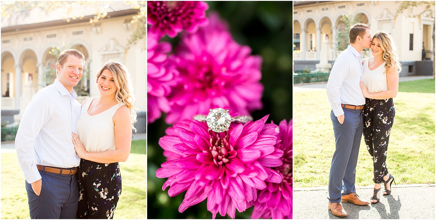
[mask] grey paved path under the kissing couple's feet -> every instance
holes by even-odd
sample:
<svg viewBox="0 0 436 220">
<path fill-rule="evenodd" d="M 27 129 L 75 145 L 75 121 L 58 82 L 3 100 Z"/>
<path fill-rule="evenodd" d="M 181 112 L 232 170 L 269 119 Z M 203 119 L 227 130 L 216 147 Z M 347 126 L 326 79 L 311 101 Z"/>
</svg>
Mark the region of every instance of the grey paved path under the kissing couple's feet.
<svg viewBox="0 0 436 220">
<path fill-rule="evenodd" d="M 372 187 L 359 187 L 356 193 L 369 201 Z M 342 218 L 328 211 L 327 187 L 293 191 L 294 219 L 435 219 L 434 184 L 392 185 L 391 195 L 381 196 L 380 202 L 367 206 L 342 203 L 348 213 Z"/>
</svg>

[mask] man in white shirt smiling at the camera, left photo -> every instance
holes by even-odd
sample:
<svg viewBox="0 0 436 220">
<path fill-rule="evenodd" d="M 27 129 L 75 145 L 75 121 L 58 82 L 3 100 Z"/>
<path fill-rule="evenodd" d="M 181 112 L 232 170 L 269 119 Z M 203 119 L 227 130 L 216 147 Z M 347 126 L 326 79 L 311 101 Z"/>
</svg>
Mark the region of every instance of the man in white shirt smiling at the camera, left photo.
<svg viewBox="0 0 436 220">
<path fill-rule="evenodd" d="M 80 158 L 72 132 L 77 132 L 80 104 L 73 87 L 82 77 L 84 64 L 80 51 L 62 51 L 54 83 L 34 95 L 21 119 L 15 147 L 26 177 L 32 219 L 76 217 L 79 193 L 74 174 Z"/>
</svg>

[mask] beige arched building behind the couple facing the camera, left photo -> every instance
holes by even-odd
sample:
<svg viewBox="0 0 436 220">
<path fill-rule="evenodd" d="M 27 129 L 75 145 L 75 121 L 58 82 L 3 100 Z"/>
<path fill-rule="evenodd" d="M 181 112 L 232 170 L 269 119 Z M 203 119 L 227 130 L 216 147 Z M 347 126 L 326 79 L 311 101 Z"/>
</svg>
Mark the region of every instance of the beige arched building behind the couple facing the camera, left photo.
<svg viewBox="0 0 436 220">
<path fill-rule="evenodd" d="M 80 6 L 79 6 L 80 7 Z M 103 5 L 104 7 L 104 5 Z M 75 48 L 85 55 L 85 70 L 75 91 L 82 102 L 99 95 L 96 74 L 106 61 L 123 62 L 129 69 L 135 87 L 135 105 L 140 109 L 137 129 L 146 126 L 146 38 L 127 46 L 138 23 L 131 23 L 138 9 L 126 2 L 112 2 L 106 18 L 90 24 L 95 8 L 79 8 L 84 17 L 61 19 L 62 8 L 47 14 L 40 8 L 10 14 L 1 20 L 1 110 L 3 116 L 24 111 L 38 89 L 54 80 L 57 57 L 53 47 L 60 51 Z M 17 115 L 15 115 L 17 118 Z M 18 117 L 19 120 L 19 117 Z"/>
</svg>

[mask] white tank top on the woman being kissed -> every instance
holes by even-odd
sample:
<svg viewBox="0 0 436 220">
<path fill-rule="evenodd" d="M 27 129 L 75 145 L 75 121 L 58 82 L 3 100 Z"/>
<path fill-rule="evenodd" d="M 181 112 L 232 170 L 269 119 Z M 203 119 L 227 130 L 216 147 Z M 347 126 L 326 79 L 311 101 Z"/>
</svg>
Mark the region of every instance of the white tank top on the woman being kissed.
<svg viewBox="0 0 436 220">
<path fill-rule="evenodd" d="M 386 70 L 386 62 L 374 70 L 370 70 L 368 68 L 369 58 L 364 59 L 363 62 L 362 81 L 366 85 L 366 88 L 368 88 L 369 93 L 388 90 L 388 80 L 386 78 L 386 74 L 383 73 Z"/>
</svg>

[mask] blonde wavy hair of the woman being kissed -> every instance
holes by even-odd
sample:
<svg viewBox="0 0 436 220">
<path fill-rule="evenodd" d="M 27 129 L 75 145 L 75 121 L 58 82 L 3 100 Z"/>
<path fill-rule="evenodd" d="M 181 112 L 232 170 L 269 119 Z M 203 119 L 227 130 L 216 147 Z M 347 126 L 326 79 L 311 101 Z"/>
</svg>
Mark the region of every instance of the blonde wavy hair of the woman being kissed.
<svg viewBox="0 0 436 220">
<path fill-rule="evenodd" d="M 398 70 L 398 74 L 400 74 L 402 68 L 398 59 L 398 50 L 392 36 L 386 31 L 380 31 L 375 33 L 372 38 L 377 38 L 380 47 L 383 50 L 383 60 L 386 62 L 386 70 L 384 73 L 390 73 L 391 68 L 395 67 Z"/>
</svg>

